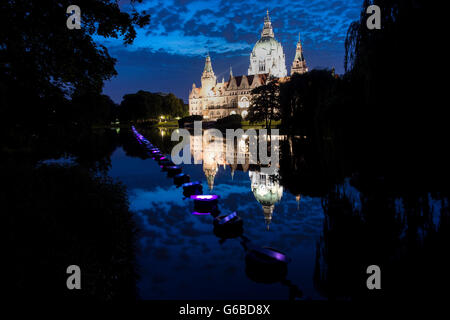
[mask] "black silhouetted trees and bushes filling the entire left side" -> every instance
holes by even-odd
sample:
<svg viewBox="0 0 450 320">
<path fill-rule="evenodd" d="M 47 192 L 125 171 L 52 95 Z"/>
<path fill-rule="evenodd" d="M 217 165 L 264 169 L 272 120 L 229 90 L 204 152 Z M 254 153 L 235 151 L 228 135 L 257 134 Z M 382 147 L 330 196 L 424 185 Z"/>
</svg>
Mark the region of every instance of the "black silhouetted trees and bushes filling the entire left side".
<svg viewBox="0 0 450 320">
<path fill-rule="evenodd" d="M 137 0 L 139 2 L 139 0 Z M 118 140 L 117 105 L 102 95 L 115 59 L 93 35 L 131 44 L 144 13 L 80 0 L 82 29 L 66 27 L 66 0 L 0 2 L 0 193 L 5 292 L 35 299 L 136 297 L 135 227 L 125 188 L 106 172 Z M 68 164 L 42 163 L 69 157 Z M 66 287 L 79 265 L 83 290 Z"/>
</svg>

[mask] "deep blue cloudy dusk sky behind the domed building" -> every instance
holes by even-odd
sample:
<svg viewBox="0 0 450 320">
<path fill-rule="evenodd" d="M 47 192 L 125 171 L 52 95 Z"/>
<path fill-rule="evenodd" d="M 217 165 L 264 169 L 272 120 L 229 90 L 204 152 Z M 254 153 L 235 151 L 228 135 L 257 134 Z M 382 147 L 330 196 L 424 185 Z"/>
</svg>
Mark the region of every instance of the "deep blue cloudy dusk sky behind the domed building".
<svg viewBox="0 0 450 320">
<path fill-rule="evenodd" d="M 137 30 L 132 45 L 98 39 L 118 60 L 119 75 L 105 84 L 104 93 L 116 102 L 141 89 L 172 92 L 187 101 L 192 83 L 200 85 L 208 50 L 219 81 L 227 80 L 230 65 L 233 74 L 247 74 L 267 9 L 288 70 L 301 32 L 310 69 L 335 67 L 343 73 L 345 35 L 361 6 L 362 0 L 144 0 L 135 7 L 147 10 L 151 21 Z M 121 7 L 128 10 L 129 4 L 121 1 Z"/>
</svg>

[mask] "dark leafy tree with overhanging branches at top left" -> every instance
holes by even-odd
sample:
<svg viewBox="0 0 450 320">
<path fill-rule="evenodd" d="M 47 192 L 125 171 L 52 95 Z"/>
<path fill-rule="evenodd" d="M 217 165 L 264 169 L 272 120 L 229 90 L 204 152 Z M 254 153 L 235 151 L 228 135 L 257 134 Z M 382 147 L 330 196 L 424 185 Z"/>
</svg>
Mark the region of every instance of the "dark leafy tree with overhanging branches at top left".
<svg viewBox="0 0 450 320">
<path fill-rule="evenodd" d="M 145 13 L 120 11 L 114 0 L 80 0 L 76 4 L 81 8 L 82 28 L 69 30 L 66 9 L 72 4 L 68 0 L 1 2 L 3 130 L 20 127 L 21 134 L 36 136 L 48 123 L 64 121 L 70 115 L 67 106 L 72 95 L 98 95 L 103 82 L 116 75 L 115 59 L 92 37 L 122 37 L 131 44 L 135 26 L 149 22 Z"/>
</svg>

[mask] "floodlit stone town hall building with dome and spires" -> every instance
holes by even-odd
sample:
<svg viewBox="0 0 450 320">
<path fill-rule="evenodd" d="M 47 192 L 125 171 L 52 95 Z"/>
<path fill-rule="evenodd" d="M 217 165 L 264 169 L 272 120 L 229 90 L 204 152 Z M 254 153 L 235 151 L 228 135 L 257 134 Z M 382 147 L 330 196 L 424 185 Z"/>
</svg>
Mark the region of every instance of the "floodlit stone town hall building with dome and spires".
<svg viewBox="0 0 450 320">
<path fill-rule="evenodd" d="M 295 57 L 291 72 L 292 70 L 300 72 L 300 67 L 303 71 L 307 71 L 300 39 Z M 270 77 L 283 81 L 286 80 L 286 75 L 283 47 L 275 40 L 269 12 L 267 12 L 261 39 L 255 44 L 250 54 L 248 75 L 234 76 L 230 69 L 228 81 L 225 82 L 222 79 L 221 82 L 217 82 L 211 57 L 208 55 L 201 77 L 201 87 L 196 87 L 194 83 L 189 93 L 189 114 L 201 115 L 205 120 L 217 120 L 232 114 L 240 114 L 245 119 L 250 106 L 251 91 L 266 84 Z"/>
</svg>

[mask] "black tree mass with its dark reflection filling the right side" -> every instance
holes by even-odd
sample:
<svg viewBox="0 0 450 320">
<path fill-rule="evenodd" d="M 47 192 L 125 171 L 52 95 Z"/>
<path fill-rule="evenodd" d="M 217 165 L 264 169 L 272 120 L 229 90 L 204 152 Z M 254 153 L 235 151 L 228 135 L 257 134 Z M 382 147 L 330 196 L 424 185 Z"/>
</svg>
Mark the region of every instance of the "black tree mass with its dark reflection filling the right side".
<svg viewBox="0 0 450 320">
<path fill-rule="evenodd" d="M 366 27 L 371 4 L 381 30 Z M 439 11 L 420 0 L 364 1 L 347 34 L 346 73 L 313 70 L 280 85 L 291 136 L 281 183 L 322 197 L 314 282 L 330 299 L 423 301 L 450 284 Z M 367 290 L 369 265 L 381 268 L 380 291 Z"/>
</svg>

